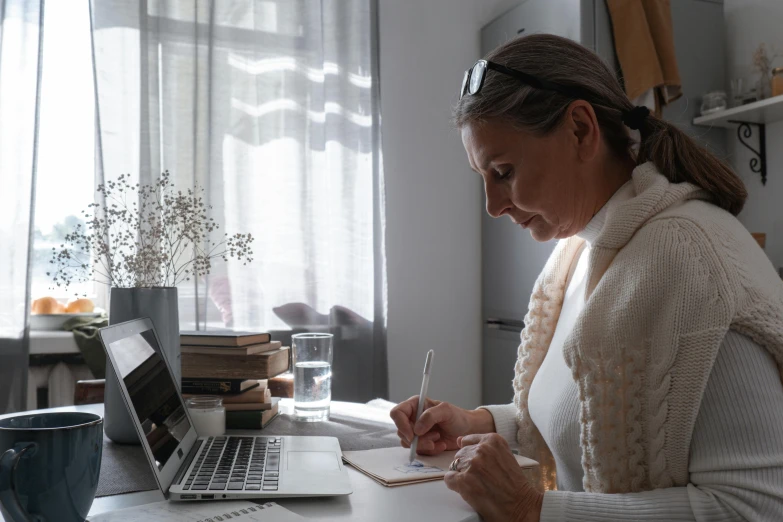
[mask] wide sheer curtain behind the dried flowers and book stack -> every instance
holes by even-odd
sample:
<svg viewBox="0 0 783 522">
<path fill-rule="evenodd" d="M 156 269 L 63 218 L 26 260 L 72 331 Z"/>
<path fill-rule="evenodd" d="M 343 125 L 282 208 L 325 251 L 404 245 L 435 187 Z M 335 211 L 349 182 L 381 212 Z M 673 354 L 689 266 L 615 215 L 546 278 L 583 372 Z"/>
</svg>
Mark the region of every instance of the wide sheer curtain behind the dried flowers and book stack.
<svg viewBox="0 0 783 522">
<path fill-rule="evenodd" d="M 334 331 L 353 400 L 388 380 L 375 2 L 92 2 L 99 177 L 169 170 L 256 238 L 180 286 L 181 328 Z"/>
</svg>

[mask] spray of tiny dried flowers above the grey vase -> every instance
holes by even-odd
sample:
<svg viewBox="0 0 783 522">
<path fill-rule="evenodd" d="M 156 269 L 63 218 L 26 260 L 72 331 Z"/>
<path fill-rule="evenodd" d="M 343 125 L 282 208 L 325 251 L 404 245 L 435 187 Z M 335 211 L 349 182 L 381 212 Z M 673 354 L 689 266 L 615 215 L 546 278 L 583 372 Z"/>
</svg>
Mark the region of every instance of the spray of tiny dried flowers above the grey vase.
<svg viewBox="0 0 783 522">
<path fill-rule="evenodd" d="M 176 286 L 208 275 L 215 258 L 252 262 L 254 238 L 224 234 L 214 241 L 220 227 L 208 215 L 204 189 L 176 191 L 170 178 L 166 171 L 154 184 L 131 185 L 123 174 L 99 185 L 104 203 L 90 204 L 82 211 L 85 226 L 52 248 L 47 275 L 54 284 L 67 288 L 97 275 L 120 288 Z"/>
</svg>

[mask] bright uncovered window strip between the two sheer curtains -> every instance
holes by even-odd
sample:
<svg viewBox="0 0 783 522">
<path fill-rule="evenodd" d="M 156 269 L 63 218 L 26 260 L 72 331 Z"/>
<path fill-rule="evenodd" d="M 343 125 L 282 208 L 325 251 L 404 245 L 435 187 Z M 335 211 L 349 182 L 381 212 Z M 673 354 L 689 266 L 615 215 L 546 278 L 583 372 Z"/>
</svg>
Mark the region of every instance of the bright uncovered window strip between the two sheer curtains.
<svg viewBox="0 0 783 522">
<path fill-rule="evenodd" d="M 35 191 L 32 297 L 97 299 L 100 283 L 51 288 L 52 247 L 93 202 L 95 97 L 88 0 L 46 2 Z M 98 305 L 103 305 L 97 302 Z"/>
</svg>

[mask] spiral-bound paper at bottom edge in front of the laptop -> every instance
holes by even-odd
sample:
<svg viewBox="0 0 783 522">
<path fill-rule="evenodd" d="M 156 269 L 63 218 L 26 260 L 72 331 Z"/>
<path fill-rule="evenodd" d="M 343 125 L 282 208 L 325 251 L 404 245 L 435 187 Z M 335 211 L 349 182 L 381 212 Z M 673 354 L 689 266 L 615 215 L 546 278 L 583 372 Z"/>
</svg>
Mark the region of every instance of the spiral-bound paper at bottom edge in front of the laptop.
<svg viewBox="0 0 783 522">
<path fill-rule="evenodd" d="M 154 502 L 89 517 L 87 522 L 203 522 L 205 520 L 297 522 L 307 519 L 274 502 L 255 504 L 246 500 L 219 500 Z"/>
</svg>

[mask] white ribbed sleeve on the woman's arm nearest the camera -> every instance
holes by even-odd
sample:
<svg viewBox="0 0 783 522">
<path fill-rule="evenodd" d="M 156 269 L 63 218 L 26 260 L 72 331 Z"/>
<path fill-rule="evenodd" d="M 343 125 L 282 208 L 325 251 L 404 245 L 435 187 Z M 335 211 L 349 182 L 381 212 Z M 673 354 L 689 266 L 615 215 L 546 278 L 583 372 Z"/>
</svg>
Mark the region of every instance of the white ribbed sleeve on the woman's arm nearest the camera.
<svg viewBox="0 0 783 522">
<path fill-rule="evenodd" d="M 783 520 L 783 384 L 772 356 L 734 331 L 707 382 L 688 469 L 686 487 L 548 491 L 541 522 Z"/>
</svg>

